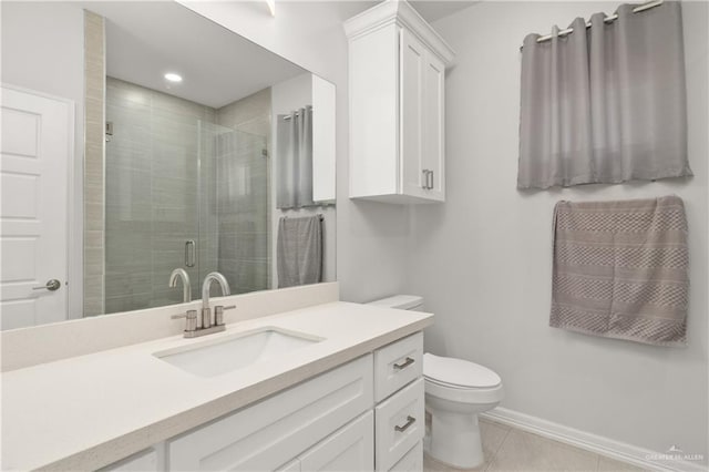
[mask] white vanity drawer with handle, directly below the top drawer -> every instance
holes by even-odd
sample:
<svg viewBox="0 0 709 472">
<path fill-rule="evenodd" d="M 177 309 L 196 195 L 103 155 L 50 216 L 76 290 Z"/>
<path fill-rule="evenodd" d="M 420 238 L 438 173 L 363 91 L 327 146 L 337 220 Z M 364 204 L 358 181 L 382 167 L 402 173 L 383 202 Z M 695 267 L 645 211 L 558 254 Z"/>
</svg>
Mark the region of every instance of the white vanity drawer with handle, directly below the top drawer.
<svg viewBox="0 0 709 472">
<path fill-rule="evenodd" d="M 419 379 L 374 409 L 378 471 L 389 471 L 420 443 L 425 430 L 423 379 Z"/>
</svg>

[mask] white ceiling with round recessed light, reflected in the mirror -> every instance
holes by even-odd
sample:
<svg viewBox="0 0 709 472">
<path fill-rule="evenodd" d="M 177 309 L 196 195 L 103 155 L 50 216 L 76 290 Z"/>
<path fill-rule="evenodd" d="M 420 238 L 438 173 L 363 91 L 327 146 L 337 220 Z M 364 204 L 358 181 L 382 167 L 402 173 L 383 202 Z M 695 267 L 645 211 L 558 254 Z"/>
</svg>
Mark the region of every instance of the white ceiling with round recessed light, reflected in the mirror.
<svg viewBox="0 0 709 472">
<path fill-rule="evenodd" d="M 106 19 L 107 75 L 207 106 L 222 107 L 307 72 L 176 2 L 82 6 Z M 183 82 L 166 81 L 166 72 Z"/>
</svg>

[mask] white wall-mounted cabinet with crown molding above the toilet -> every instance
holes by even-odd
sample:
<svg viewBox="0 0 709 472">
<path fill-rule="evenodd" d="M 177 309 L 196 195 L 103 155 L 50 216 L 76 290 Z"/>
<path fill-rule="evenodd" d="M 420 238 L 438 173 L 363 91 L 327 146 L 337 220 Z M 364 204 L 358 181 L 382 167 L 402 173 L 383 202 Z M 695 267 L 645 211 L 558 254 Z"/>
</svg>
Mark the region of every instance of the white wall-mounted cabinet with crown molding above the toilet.
<svg viewBox="0 0 709 472">
<path fill-rule="evenodd" d="M 350 197 L 443 202 L 444 74 L 453 51 L 405 1 L 383 1 L 345 29 Z"/>
</svg>

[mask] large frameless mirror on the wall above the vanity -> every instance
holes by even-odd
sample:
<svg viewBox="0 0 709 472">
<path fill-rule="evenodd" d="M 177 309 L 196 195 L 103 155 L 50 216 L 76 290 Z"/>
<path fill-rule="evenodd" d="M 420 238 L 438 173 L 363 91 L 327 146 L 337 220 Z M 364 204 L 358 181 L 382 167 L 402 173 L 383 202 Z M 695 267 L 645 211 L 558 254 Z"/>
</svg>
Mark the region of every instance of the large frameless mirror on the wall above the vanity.
<svg viewBox="0 0 709 472">
<path fill-rule="evenodd" d="M 198 299 L 215 270 L 232 294 L 335 280 L 333 84 L 164 1 L 2 2 L 2 83 L 19 103 L 3 103 L 3 136 L 23 136 L 24 102 L 74 113 L 39 115 L 37 130 L 70 130 L 73 153 L 65 175 L 32 174 L 25 214 L 4 202 L 25 198 L 10 164 L 28 155 L 3 145 L 2 226 L 59 216 L 3 233 L 2 329 Z M 65 208 L 45 188 L 65 188 Z M 304 244 L 321 256 L 290 259 Z"/>
</svg>

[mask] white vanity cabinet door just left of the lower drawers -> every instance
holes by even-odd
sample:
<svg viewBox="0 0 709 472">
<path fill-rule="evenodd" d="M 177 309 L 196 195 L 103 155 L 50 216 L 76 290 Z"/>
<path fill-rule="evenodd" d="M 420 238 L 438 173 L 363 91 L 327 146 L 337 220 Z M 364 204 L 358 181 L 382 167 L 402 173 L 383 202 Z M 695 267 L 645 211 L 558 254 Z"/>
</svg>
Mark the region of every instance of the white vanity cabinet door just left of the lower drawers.
<svg viewBox="0 0 709 472">
<path fill-rule="evenodd" d="M 374 469 L 374 414 L 362 414 L 300 456 L 300 470 L 371 471 Z"/>
</svg>

